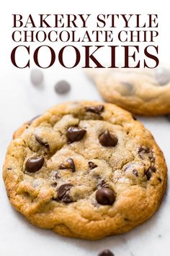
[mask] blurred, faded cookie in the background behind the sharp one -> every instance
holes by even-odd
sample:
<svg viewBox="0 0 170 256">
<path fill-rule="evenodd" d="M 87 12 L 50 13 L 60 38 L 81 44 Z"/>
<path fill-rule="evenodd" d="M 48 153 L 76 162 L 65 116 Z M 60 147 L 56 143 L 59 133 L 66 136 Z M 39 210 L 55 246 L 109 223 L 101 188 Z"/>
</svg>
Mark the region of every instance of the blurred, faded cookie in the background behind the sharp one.
<svg viewBox="0 0 170 256">
<path fill-rule="evenodd" d="M 170 69 L 89 69 L 105 101 L 134 114 L 170 114 Z"/>
</svg>

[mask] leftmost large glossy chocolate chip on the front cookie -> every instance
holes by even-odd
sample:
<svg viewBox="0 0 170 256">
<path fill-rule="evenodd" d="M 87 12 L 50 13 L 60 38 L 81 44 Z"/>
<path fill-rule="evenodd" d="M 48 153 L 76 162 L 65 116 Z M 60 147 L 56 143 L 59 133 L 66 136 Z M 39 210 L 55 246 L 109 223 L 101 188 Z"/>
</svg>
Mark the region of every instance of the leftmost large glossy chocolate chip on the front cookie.
<svg viewBox="0 0 170 256">
<path fill-rule="evenodd" d="M 28 172 L 35 173 L 43 166 L 44 158 L 42 156 L 29 158 L 25 163 L 25 168 Z"/>
</svg>

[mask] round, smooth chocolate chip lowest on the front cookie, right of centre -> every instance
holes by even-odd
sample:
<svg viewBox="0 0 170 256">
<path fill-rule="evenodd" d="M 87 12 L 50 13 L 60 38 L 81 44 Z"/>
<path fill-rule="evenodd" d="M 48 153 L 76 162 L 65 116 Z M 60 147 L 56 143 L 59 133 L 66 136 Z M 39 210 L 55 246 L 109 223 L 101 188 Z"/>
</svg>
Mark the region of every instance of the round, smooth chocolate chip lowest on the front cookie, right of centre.
<svg viewBox="0 0 170 256">
<path fill-rule="evenodd" d="M 112 205 L 115 202 L 116 195 L 112 189 L 102 187 L 97 189 L 96 200 L 100 205 Z"/>
</svg>

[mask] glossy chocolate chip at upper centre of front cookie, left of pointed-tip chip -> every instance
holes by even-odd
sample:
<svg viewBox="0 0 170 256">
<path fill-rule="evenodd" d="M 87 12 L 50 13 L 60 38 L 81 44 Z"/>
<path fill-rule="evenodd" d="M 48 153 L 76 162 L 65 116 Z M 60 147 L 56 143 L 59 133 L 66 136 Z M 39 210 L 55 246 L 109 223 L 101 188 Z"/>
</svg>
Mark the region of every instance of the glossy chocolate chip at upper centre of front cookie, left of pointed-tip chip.
<svg viewBox="0 0 170 256">
<path fill-rule="evenodd" d="M 68 142 L 72 143 L 75 141 L 79 141 L 83 139 L 84 135 L 86 134 L 86 130 L 80 127 L 69 127 L 66 133 L 68 138 Z"/>
</svg>

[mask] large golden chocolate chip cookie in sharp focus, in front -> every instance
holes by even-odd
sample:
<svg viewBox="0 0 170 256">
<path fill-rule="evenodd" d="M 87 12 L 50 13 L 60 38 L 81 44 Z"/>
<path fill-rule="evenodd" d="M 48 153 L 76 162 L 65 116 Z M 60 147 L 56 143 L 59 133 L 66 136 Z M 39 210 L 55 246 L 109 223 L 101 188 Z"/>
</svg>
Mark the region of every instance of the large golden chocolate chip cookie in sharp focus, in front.
<svg viewBox="0 0 170 256">
<path fill-rule="evenodd" d="M 4 162 L 14 208 L 64 236 L 101 239 L 153 216 L 166 189 L 164 155 L 115 105 L 70 102 L 14 134 Z"/>
</svg>

